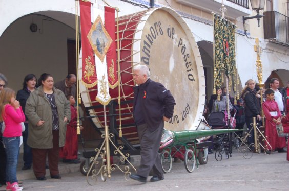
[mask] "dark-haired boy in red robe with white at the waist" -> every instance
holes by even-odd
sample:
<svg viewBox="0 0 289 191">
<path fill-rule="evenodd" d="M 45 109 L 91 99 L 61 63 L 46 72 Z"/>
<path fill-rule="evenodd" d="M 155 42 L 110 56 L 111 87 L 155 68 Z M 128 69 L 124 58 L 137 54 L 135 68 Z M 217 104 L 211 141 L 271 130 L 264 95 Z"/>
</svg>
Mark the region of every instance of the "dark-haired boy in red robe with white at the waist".
<svg viewBox="0 0 289 191">
<path fill-rule="evenodd" d="M 265 91 L 266 101 L 263 102 L 263 111 L 266 117 L 265 125 L 265 135 L 267 136 L 267 141 L 274 151 L 277 149 L 279 153 L 286 152 L 283 148 L 286 147 L 285 137 L 279 137 L 276 129 L 276 124 L 281 123 L 281 112 L 278 108 L 277 102 L 274 101 L 274 90 L 267 89 Z M 268 145 L 269 152 L 271 150 Z"/>
</svg>

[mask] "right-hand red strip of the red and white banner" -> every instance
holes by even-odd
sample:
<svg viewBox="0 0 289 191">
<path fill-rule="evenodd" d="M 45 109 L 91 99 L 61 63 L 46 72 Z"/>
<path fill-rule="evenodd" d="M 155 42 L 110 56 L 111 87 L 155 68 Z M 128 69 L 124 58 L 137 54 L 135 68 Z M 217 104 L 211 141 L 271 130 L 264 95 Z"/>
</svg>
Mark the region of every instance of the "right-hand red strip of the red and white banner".
<svg viewBox="0 0 289 191">
<path fill-rule="evenodd" d="M 107 52 L 107 70 L 109 87 L 115 88 L 118 84 L 116 48 L 115 48 L 115 9 L 105 6 L 105 28 L 112 39 L 112 44 Z"/>
</svg>

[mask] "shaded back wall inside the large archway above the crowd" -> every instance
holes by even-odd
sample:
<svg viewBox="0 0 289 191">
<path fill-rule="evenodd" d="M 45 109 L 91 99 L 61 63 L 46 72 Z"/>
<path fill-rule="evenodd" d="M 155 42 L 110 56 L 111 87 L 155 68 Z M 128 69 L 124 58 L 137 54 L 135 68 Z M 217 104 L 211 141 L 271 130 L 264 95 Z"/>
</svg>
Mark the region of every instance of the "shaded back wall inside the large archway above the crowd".
<svg viewBox="0 0 289 191">
<path fill-rule="evenodd" d="M 33 16 L 40 32 L 32 33 L 32 16 L 15 21 L 0 38 L 1 70 L 8 78 L 9 87 L 22 88 L 25 75 L 39 78 L 51 73 L 55 81 L 67 75 L 67 39 L 75 39 L 75 31 L 62 23 Z M 42 25 L 43 23 L 43 25 Z"/>
</svg>

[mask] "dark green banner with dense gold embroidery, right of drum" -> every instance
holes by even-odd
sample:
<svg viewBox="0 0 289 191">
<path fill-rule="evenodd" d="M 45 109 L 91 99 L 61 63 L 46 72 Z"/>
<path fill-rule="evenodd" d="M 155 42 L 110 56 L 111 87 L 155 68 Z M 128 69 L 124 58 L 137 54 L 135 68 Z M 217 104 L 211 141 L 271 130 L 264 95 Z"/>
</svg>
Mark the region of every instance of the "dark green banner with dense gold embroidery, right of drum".
<svg viewBox="0 0 289 191">
<path fill-rule="evenodd" d="M 229 20 L 214 14 L 214 81 L 215 88 L 224 83 L 223 72 L 229 79 L 229 90 L 236 74 L 236 26 Z M 215 90 L 214 90 L 215 91 Z"/>
</svg>

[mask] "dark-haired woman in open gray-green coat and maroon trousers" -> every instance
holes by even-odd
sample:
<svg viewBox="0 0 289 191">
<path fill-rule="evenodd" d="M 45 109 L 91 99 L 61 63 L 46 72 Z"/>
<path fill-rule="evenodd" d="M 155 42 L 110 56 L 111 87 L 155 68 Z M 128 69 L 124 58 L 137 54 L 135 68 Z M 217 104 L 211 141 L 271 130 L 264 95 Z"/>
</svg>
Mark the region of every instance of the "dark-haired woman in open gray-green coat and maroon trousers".
<svg viewBox="0 0 289 191">
<path fill-rule="evenodd" d="M 70 120 L 70 105 L 62 91 L 53 87 L 53 77 L 42 74 L 41 85 L 30 94 L 25 107 L 29 120 L 27 144 L 32 148 L 33 171 L 37 180 L 46 180 L 45 164 L 51 178 L 60 179 L 59 147 L 65 144 L 66 124 Z"/>
</svg>

